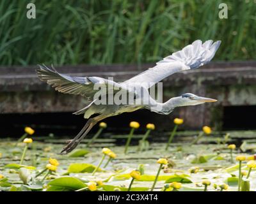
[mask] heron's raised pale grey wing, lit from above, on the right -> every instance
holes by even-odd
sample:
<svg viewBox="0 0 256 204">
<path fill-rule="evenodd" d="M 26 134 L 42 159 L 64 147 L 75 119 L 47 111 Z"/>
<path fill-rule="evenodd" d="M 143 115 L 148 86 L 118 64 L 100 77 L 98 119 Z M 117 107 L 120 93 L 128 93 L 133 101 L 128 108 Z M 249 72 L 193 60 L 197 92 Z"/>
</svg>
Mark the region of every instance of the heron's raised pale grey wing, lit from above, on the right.
<svg viewBox="0 0 256 204">
<path fill-rule="evenodd" d="M 125 81 L 124 84 L 141 84 L 148 89 L 173 73 L 196 69 L 211 61 L 220 43 L 221 41 L 213 43 L 212 40 L 207 40 L 202 44 L 201 40 L 196 40 L 191 45 L 157 62 L 153 68 Z"/>
</svg>

